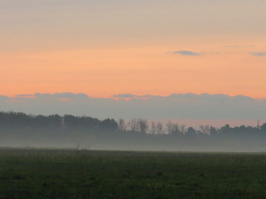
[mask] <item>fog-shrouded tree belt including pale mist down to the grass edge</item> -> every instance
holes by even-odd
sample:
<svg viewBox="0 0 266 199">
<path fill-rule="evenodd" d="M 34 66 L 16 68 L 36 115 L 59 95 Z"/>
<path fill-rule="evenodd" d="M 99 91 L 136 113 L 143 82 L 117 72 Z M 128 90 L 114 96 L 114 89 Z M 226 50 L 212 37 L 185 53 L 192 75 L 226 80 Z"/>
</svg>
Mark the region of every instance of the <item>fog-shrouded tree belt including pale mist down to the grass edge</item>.
<svg viewBox="0 0 266 199">
<path fill-rule="evenodd" d="M 266 123 L 197 128 L 171 121 L 0 112 L 0 146 L 91 150 L 266 151 Z"/>
</svg>

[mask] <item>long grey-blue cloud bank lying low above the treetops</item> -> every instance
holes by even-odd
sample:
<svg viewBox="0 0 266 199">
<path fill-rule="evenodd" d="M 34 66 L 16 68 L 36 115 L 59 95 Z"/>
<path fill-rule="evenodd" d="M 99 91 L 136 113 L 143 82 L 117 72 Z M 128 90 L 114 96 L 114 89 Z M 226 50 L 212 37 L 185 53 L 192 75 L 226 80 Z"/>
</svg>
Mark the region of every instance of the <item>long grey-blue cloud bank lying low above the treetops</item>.
<svg viewBox="0 0 266 199">
<path fill-rule="evenodd" d="M 73 114 L 105 118 L 182 119 L 266 119 L 266 99 L 226 94 L 173 93 L 169 96 L 117 94 L 118 98 L 90 98 L 84 93 L 36 93 L 32 97 L 0 96 L 0 111 L 27 114 Z"/>
</svg>

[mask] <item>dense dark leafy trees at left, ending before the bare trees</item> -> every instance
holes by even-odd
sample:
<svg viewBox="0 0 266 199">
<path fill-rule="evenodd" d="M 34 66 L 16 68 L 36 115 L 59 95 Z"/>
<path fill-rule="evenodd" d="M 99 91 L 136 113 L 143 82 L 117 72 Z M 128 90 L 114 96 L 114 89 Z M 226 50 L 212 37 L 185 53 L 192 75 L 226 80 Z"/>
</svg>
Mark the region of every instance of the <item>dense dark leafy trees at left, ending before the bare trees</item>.
<svg viewBox="0 0 266 199">
<path fill-rule="evenodd" d="M 88 116 L 64 115 L 32 115 L 21 112 L 0 112 L 1 129 L 35 129 L 45 131 L 109 131 L 118 130 L 114 119 L 99 120 Z"/>
</svg>

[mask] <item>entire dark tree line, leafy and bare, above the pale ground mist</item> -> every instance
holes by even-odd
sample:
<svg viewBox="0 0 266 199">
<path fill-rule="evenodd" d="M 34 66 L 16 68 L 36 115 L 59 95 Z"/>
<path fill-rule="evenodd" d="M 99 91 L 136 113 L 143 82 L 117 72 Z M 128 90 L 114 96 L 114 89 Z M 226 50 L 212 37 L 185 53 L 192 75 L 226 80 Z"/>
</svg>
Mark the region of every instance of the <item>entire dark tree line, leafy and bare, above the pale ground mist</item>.
<svg viewBox="0 0 266 199">
<path fill-rule="evenodd" d="M 65 131 L 65 132 L 139 132 L 149 133 L 151 135 L 228 135 L 228 134 L 256 134 L 266 133 L 266 123 L 263 123 L 260 128 L 252 126 L 230 127 L 228 124 L 221 128 L 200 125 L 198 129 L 193 127 L 186 128 L 185 124 L 179 125 L 169 120 L 167 123 L 162 122 L 148 122 L 147 119 L 131 119 L 126 122 L 120 118 L 118 121 L 114 119 L 99 120 L 89 116 L 74 116 L 66 114 L 60 116 L 58 114 L 44 116 L 32 115 L 22 112 L 0 112 L 0 129 L 2 130 L 16 130 L 16 129 L 32 129 L 40 131 Z"/>
</svg>

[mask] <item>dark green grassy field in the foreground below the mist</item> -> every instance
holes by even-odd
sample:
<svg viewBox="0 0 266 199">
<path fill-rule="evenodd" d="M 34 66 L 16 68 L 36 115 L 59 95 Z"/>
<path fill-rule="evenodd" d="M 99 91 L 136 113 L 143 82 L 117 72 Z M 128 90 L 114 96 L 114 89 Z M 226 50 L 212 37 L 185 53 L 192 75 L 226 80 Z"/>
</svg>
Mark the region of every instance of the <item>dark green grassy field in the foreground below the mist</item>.
<svg viewBox="0 0 266 199">
<path fill-rule="evenodd" d="M 266 198 L 263 153 L 0 149 L 0 198 Z"/>
</svg>

